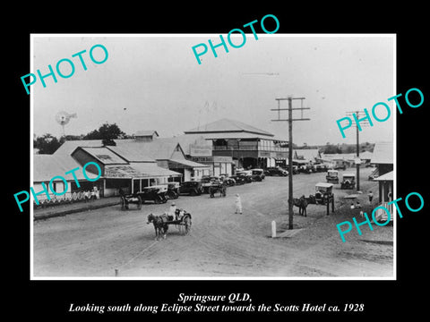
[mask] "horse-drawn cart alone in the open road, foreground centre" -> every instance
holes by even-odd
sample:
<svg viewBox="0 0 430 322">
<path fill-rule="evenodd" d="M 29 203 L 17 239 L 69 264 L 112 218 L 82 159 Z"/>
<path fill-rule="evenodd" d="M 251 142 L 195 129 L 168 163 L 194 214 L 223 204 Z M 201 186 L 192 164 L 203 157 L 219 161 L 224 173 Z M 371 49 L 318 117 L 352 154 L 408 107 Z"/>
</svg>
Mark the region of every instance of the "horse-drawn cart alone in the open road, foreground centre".
<svg viewBox="0 0 430 322">
<path fill-rule="evenodd" d="M 176 209 L 175 216 L 169 216 L 167 213 L 159 216 L 150 214 L 146 224 L 150 223 L 154 225 L 157 241 L 159 240 L 160 235 L 163 235 L 163 238 L 166 238 L 168 225 L 176 225 L 179 233 L 182 234 L 190 233 L 192 225 L 191 214 L 184 209 Z"/>
</svg>

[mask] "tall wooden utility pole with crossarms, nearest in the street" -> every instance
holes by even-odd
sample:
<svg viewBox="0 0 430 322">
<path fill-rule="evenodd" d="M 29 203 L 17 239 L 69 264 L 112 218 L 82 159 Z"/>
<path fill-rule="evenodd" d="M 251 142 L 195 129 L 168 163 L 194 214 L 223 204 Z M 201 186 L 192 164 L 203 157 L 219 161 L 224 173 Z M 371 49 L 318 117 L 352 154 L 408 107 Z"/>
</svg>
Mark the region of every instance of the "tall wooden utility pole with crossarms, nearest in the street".
<svg viewBox="0 0 430 322">
<path fill-rule="evenodd" d="M 293 100 L 300 99 L 301 107 L 293 108 Z M 271 109 L 271 111 L 278 112 L 278 119 L 271 120 L 272 122 L 288 122 L 288 229 L 293 229 L 293 216 L 294 216 L 294 203 L 293 203 L 293 121 L 309 121 L 309 118 L 303 118 L 303 110 L 311 109 L 310 107 L 303 107 L 303 100 L 305 97 L 292 97 L 275 98 L 278 101 L 278 108 Z M 288 108 L 280 108 L 280 101 L 288 100 Z M 301 118 L 293 119 L 293 110 L 301 110 Z M 280 111 L 288 111 L 288 119 L 280 118 Z"/>
</svg>

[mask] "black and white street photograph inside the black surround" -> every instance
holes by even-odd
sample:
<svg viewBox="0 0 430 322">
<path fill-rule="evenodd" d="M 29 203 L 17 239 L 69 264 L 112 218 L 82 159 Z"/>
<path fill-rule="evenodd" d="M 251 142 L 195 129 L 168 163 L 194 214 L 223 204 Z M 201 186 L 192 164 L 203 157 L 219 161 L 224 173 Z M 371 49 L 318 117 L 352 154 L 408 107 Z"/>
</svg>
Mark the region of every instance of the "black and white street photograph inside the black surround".
<svg viewBox="0 0 430 322">
<path fill-rule="evenodd" d="M 34 35 L 33 277 L 394 278 L 395 46 Z"/>
</svg>

